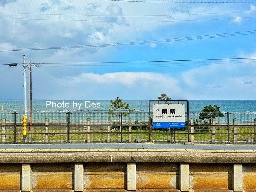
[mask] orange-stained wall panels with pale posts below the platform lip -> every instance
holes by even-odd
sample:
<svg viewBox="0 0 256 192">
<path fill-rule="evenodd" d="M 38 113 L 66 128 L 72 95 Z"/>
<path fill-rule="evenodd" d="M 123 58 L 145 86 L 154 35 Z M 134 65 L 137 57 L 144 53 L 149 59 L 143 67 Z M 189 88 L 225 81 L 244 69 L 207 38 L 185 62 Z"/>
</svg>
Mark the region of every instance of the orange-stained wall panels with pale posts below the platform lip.
<svg viewBox="0 0 256 192">
<path fill-rule="evenodd" d="M 0 190 L 256 189 L 256 164 L 34 163 L 0 164 Z"/>
</svg>

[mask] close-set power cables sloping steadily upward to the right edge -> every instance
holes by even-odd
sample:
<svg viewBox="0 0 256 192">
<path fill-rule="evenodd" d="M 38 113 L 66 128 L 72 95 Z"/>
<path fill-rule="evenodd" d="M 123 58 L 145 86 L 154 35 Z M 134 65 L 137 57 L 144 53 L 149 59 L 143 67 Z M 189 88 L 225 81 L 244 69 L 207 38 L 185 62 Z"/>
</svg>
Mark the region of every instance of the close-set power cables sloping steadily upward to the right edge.
<svg viewBox="0 0 256 192">
<path fill-rule="evenodd" d="M 124 46 L 124 45 L 141 45 L 141 44 L 149 44 L 149 43 L 164 43 L 164 42 L 175 42 L 175 41 L 184 41 L 184 40 L 197 40 L 197 39 L 207 39 L 207 38 L 217 38 L 217 37 L 231 37 L 231 36 L 239 36 L 239 35 L 251 35 L 251 34 L 255 34 L 255 33 L 256 33 L 256 30 L 251 30 L 251 31 L 243 31 L 243 32 L 219 33 L 219 34 L 213 34 L 213 35 L 201 35 L 201 36 L 170 38 L 170 39 L 139 41 L 139 42 L 112 43 L 112 44 L 99 44 L 99 45 L 79 45 L 79 46 L 65 46 L 65 47 L 5 49 L 5 50 L 0 50 L 0 52 L 28 51 L 28 50 L 54 50 L 54 49 L 71 49 L 71 48 L 94 48 L 94 47 L 110 47 L 110 46 Z"/>
</svg>

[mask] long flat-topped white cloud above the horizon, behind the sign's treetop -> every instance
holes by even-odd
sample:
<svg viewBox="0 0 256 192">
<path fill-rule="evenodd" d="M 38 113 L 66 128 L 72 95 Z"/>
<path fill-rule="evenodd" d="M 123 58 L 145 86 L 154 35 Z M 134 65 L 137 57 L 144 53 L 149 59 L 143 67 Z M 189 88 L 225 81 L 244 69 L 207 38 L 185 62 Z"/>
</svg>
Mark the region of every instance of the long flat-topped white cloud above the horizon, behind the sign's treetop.
<svg viewBox="0 0 256 192">
<path fill-rule="evenodd" d="M 170 75 L 153 72 L 82 73 L 77 76 L 59 78 L 54 86 L 60 94 L 50 94 L 52 99 L 152 99 L 163 92 L 171 91 L 172 98 L 178 98 L 181 88 Z"/>
</svg>

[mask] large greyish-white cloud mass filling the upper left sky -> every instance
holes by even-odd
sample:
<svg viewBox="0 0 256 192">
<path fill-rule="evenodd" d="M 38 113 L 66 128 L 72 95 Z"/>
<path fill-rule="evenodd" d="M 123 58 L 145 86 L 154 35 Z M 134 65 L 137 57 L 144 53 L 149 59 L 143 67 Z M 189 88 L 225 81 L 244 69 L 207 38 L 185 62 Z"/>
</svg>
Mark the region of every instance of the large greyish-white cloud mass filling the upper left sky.
<svg viewBox="0 0 256 192">
<path fill-rule="evenodd" d="M 14 1 L 13 1 L 14 2 Z M 34 48 L 35 44 L 40 44 L 40 47 L 65 47 L 74 45 L 94 45 L 115 42 L 115 39 L 110 39 L 110 32 L 113 33 L 115 26 L 126 28 L 125 17 L 122 16 L 122 7 L 114 4 L 107 6 L 99 5 L 98 3 L 84 2 L 82 5 L 70 2 L 59 1 L 33 1 L 20 4 L 3 2 L 4 7 L 1 7 L 2 12 L 12 12 L 13 14 L 5 14 L 5 17 L 11 18 L 28 18 L 31 20 L 20 20 L 1 18 L 0 39 L 17 45 L 18 48 Z M 22 5 L 26 5 L 26 9 L 22 9 Z M 69 9 L 67 9 L 69 7 Z M 50 13 L 56 15 L 18 15 L 19 13 Z M 41 11 L 40 11 L 41 10 Z M 75 16 L 69 14 L 85 14 L 91 16 Z M 57 15 L 64 14 L 64 15 Z M 65 15 L 67 14 L 67 15 Z M 95 15 L 95 16 L 94 16 Z M 118 15 L 115 17 L 97 17 L 96 15 Z M 38 19 L 38 20 L 37 20 Z M 49 20 L 40 20 L 49 19 Z M 54 19 L 51 20 L 51 19 Z M 56 21 L 62 19 L 66 21 Z M 110 22 L 85 22 L 85 21 L 69 21 L 69 20 L 109 20 Z M 112 21 L 122 21 L 124 23 L 115 23 Z M 122 36 L 122 33 L 115 34 Z M 94 52 L 100 48 L 94 49 Z M 86 52 L 87 49 L 84 49 Z M 49 53 L 54 55 L 56 51 L 48 52 L 45 55 L 40 54 L 42 58 L 49 57 Z M 93 52 L 93 53 L 94 53 Z M 90 50 L 88 53 L 91 53 Z M 47 56 L 46 56 L 47 55 Z M 39 57 L 40 57 L 39 56 Z"/>
</svg>

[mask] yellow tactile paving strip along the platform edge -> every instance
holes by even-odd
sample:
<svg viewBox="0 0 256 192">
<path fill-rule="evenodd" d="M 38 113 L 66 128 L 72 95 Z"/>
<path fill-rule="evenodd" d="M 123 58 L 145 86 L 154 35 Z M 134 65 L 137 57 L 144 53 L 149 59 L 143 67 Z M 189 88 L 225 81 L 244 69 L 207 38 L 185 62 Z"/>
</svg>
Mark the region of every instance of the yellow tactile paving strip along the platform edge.
<svg viewBox="0 0 256 192">
<path fill-rule="evenodd" d="M 0 149 L 0 153 L 25 152 L 204 152 L 204 153 L 256 153 L 256 150 L 214 149 L 128 149 L 128 148 L 70 148 L 70 149 Z"/>
</svg>

